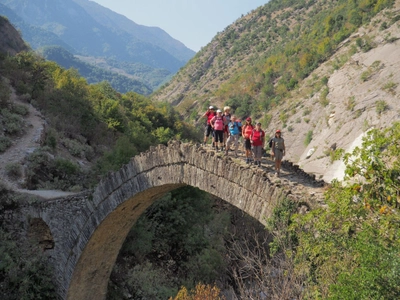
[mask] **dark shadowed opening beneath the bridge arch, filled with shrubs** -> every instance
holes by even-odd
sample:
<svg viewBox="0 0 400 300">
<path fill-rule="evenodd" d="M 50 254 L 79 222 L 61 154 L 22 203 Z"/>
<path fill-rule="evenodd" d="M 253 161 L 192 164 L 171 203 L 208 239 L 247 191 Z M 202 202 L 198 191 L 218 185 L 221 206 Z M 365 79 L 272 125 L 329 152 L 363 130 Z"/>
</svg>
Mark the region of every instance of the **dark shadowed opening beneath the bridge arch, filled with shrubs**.
<svg viewBox="0 0 400 300">
<path fill-rule="evenodd" d="M 130 230 L 107 299 L 169 299 L 200 282 L 233 299 L 239 281 L 260 272 L 270 241 L 263 224 L 221 198 L 191 186 L 173 190 Z M 259 255 L 259 265 L 245 261 L 247 250 Z"/>
</svg>

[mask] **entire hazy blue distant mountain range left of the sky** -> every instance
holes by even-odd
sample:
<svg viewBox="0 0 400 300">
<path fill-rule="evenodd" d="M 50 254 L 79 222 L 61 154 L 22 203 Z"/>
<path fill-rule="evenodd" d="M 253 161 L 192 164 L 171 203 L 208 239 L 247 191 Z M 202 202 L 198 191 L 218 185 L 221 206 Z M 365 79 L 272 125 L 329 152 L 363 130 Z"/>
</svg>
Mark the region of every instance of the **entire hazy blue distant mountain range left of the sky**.
<svg viewBox="0 0 400 300">
<path fill-rule="evenodd" d="M 129 66 L 126 73 L 151 89 L 195 54 L 162 29 L 138 25 L 88 0 L 0 0 L 0 15 L 9 18 L 33 49 L 60 46 L 87 61 L 113 62 L 106 69 Z M 125 71 L 119 75 L 127 75 Z"/>
</svg>

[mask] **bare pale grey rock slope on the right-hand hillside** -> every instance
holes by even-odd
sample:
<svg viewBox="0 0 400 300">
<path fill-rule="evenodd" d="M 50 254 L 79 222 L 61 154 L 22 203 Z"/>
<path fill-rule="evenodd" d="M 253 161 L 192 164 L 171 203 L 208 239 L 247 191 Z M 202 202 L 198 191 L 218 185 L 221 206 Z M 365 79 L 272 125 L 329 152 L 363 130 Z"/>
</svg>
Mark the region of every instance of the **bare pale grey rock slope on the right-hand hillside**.
<svg viewBox="0 0 400 300">
<path fill-rule="evenodd" d="M 396 4 L 398 15 L 400 1 Z M 382 18 L 385 12 L 376 17 Z M 400 121 L 400 22 L 390 24 L 388 19 L 386 29 L 373 24 L 345 40 L 292 99 L 273 112 L 267 129 L 272 135 L 283 127 L 281 113 L 290 114 L 283 128 L 286 158 L 328 182 L 342 179 L 345 168 L 340 160 L 332 162 L 332 149 L 351 152 L 361 146 L 369 129 Z M 360 41 L 371 49 L 359 49 Z M 326 85 L 315 93 L 315 85 L 324 77 Z"/>
</svg>

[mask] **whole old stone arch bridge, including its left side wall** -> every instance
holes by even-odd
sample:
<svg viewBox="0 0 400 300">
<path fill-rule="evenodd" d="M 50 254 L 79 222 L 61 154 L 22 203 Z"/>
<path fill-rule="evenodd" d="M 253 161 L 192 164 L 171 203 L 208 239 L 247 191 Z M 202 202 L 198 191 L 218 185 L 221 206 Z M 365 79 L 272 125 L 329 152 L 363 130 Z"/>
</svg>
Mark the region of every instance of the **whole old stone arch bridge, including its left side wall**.
<svg viewBox="0 0 400 300">
<path fill-rule="evenodd" d="M 46 253 L 61 299 L 105 299 L 129 230 L 163 194 L 185 185 L 198 187 L 262 222 L 285 196 L 305 201 L 301 184 L 271 178 L 262 169 L 173 141 L 133 157 L 93 191 L 24 205 L 19 215 L 27 232 L 36 230 L 34 224 L 47 227 Z M 311 188 L 312 183 L 320 185 L 312 177 L 305 179 L 310 179 Z"/>
</svg>

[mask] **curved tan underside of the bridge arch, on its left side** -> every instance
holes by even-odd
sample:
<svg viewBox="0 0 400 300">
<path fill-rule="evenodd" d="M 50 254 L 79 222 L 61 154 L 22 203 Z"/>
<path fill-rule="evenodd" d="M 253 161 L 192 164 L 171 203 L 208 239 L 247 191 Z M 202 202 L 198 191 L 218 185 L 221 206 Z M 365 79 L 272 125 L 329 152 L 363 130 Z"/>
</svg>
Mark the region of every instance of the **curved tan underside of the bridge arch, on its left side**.
<svg viewBox="0 0 400 300">
<path fill-rule="evenodd" d="M 165 193 L 184 186 L 147 189 L 124 201 L 97 226 L 75 266 L 67 299 L 105 299 L 111 270 L 129 230 L 140 215 Z"/>
</svg>

